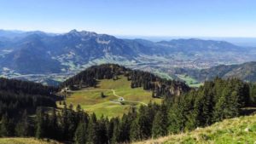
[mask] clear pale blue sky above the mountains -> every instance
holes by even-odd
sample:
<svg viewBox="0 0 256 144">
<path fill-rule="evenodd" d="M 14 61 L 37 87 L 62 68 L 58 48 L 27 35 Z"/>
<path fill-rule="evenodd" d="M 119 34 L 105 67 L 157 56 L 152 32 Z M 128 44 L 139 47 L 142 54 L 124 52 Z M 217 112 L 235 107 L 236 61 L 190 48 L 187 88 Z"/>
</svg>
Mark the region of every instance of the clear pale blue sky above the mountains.
<svg viewBox="0 0 256 144">
<path fill-rule="evenodd" d="M 0 29 L 256 37 L 255 0 L 0 0 Z"/>
</svg>

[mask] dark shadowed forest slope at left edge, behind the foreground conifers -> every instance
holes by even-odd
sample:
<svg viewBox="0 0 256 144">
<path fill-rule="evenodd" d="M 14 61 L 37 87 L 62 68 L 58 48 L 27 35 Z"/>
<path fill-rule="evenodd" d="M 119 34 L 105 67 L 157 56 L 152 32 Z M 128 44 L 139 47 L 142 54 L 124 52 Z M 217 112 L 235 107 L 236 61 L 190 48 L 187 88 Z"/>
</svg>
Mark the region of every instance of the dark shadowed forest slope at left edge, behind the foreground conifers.
<svg viewBox="0 0 256 144">
<path fill-rule="evenodd" d="M 56 91 L 55 87 L 0 78 L 0 118 L 3 114 L 17 117 L 26 109 L 35 111 L 37 107 L 55 107 Z"/>
</svg>

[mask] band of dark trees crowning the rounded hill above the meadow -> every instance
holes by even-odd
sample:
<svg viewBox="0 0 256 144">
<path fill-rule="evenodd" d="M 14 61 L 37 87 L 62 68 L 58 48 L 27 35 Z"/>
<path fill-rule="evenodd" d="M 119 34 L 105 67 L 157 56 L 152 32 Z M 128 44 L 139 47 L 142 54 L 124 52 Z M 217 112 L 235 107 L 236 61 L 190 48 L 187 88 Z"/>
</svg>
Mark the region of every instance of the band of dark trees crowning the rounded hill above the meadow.
<svg viewBox="0 0 256 144">
<path fill-rule="evenodd" d="M 131 80 L 131 88 L 143 87 L 143 89 L 152 90 L 153 97 L 181 95 L 182 93 L 189 91 L 189 86 L 183 82 L 166 80 L 165 78 L 160 78 L 150 72 L 131 70 L 115 64 L 90 66 L 73 78 L 67 79 L 61 84 L 61 87 L 69 87 L 71 89 L 96 87 L 97 79 L 113 78 L 113 80 L 117 80 L 119 75 L 124 75 L 127 80 Z"/>
</svg>

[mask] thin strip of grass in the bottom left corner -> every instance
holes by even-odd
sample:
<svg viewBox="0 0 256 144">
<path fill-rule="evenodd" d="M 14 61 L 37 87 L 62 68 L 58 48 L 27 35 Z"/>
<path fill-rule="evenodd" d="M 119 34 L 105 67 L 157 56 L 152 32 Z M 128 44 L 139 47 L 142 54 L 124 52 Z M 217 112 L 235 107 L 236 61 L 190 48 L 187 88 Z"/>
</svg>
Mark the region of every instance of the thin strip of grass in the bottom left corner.
<svg viewBox="0 0 256 144">
<path fill-rule="evenodd" d="M 0 138 L 1 144 L 61 144 L 58 141 L 38 140 L 36 138 Z"/>
</svg>

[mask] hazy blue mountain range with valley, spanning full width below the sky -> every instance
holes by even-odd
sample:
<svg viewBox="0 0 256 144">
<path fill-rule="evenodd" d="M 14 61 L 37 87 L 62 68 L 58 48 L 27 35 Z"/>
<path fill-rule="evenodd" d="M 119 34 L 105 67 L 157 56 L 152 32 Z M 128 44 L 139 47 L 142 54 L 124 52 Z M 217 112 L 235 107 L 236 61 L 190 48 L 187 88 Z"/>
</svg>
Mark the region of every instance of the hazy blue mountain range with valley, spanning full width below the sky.
<svg viewBox="0 0 256 144">
<path fill-rule="evenodd" d="M 0 31 L 0 72 L 8 78 L 28 74 L 48 77 L 52 73 L 65 73 L 67 78 L 102 63 L 157 71 L 151 67 L 195 69 L 250 60 L 256 60 L 255 49 L 224 41 L 175 39 L 155 43 L 76 30 L 64 34 Z"/>
</svg>

